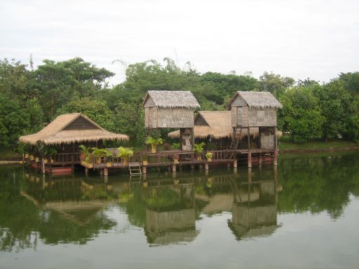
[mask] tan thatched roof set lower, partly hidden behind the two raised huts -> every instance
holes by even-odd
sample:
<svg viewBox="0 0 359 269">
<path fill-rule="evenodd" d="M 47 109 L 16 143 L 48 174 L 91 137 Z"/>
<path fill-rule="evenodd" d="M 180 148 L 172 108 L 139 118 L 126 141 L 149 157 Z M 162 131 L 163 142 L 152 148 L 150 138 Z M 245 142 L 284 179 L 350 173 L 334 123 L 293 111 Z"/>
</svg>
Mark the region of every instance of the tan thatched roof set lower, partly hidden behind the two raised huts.
<svg viewBox="0 0 359 269">
<path fill-rule="evenodd" d="M 205 125 L 203 125 L 203 121 Z M 200 125 L 201 124 L 201 125 Z M 258 137 L 259 128 L 251 127 L 250 136 Z M 230 138 L 233 135 L 231 123 L 231 111 L 199 111 L 194 120 L 194 137 L 198 139 L 205 139 L 212 137 L 214 139 Z M 240 139 L 247 136 L 247 130 L 243 130 Z M 277 136 L 282 136 L 282 132 L 277 131 Z M 179 130 L 170 132 L 170 138 L 179 138 Z"/>
</svg>

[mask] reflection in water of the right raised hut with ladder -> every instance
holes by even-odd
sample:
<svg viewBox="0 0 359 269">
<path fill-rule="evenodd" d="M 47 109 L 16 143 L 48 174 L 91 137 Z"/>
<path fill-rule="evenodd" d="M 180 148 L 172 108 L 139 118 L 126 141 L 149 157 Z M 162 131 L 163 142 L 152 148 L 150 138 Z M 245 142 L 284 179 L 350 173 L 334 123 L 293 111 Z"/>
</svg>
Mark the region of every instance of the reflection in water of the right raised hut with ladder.
<svg viewBox="0 0 359 269">
<path fill-rule="evenodd" d="M 229 228 L 238 240 L 244 237 L 271 235 L 277 226 L 277 181 L 254 181 L 238 184 L 233 193 L 232 219 Z M 252 190 L 257 189 L 255 197 Z M 247 191 L 247 196 L 238 195 Z"/>
</svg>

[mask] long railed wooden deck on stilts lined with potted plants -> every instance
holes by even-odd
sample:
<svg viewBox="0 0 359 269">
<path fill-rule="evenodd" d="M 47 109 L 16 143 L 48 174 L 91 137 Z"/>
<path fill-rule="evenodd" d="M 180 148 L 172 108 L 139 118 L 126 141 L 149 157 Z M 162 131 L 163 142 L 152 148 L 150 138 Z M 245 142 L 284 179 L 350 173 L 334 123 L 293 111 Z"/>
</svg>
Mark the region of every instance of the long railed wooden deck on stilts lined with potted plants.
<svg viewBox="0 0 359 269">
<path fill-rule="evenodd" d="M 127 162 L 123 158 L 118 156 L 112 156 L 110 158 L 91 158 L 90 163 L 84 163 L 81 161 L 80 153 L 60 153 L 53 156 L 52 161 L 48 163 L 42 163 L 41 160 L 36 162 L 35 160 L 26 159 L 25 162 L 32 165 L 32 167 L 44 170 L 45 172 L 56 174 L 73 172 L 75 165 L 82 165 L 94 170 L 106 170 L 109 169 L 127 169 L 129 164 L 135 163 L 142 169 L 143 173 L 146 173 L 147 167 L 172 167 L 172 171 L 175 171 L 177 166 L 182 165 L 204 165 L 205 169 L 210 166 L 217 165 L 233 165 L 236 167 L 237 161 L 246 161 L 248 166 L 251 167 L 252 163 L 262 163 L 274 160 L 276 151 L 273 149 L 237 149 L 235 154 L 233 151 L 224 149 L 219 151 L 210 151 L 212 153 L 212 160 L 205 158 L 205 153 L 198 154 L 192 151 L 158 151 L 157 153 L 151 153 L 149 151 L 139 151 L 134 154 Z M 250 153 L 250 154 L 249 154 Z M 147 162 L 144 162 L 147 160 Z"/>
</svg>

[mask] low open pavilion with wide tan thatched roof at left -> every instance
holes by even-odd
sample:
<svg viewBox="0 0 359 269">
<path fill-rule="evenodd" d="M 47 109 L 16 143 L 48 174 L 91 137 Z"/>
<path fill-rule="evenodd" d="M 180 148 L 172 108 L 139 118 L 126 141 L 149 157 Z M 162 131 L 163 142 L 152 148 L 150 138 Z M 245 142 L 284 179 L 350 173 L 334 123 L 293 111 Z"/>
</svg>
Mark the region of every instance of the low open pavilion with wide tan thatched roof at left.
<svg viewBox="0 0 359 269">
<path fill-rule="evenodd" d="M 28 145 L 33 167 L 51 173 L 72 172 L 81 163 L 79 146 L 103 147 L 104 141 L 127 141 L 128 136 L 104 130 L 82 113 L 58 116 L 42 130 L 20 137 Z"/>
</svg>

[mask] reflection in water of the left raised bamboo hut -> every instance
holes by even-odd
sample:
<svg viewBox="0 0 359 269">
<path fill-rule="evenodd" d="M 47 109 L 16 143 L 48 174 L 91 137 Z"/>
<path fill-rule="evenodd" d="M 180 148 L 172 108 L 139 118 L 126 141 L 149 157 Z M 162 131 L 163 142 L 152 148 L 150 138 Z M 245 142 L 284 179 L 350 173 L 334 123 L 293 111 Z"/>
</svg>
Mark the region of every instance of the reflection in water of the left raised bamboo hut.
<svg viewBox="0 0 359 269">
<path fill-rule="evenodd" d="M 172 194 L 178 200 L 168 206 L 165 193 L 156 188 L 158 202 L 146 209 L 146 235 L 151 244 L 178 244 L 191 242 L 198 235 L 196 230 L 196 211 L 194 209 L 194 186 L 191 184 L 171 186 Z"/>
</svg>

